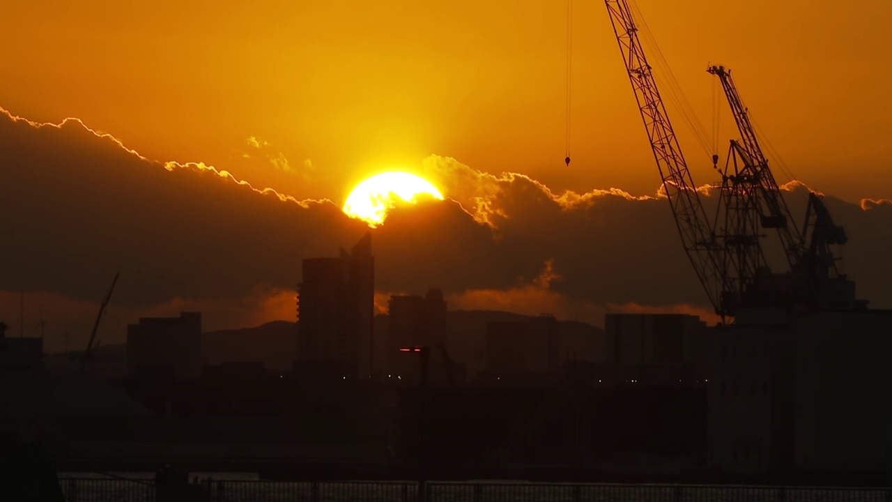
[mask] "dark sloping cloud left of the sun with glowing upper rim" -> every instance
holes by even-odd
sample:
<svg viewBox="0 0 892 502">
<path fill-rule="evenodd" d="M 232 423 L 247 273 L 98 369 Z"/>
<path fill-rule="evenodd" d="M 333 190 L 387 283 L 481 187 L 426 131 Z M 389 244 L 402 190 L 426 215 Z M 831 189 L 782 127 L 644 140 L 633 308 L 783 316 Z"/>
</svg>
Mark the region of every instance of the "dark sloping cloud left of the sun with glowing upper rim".
<svg viewBox="0 0 892 502">
<path fill-rule="evenodd" d="M 364 231 L 329 201 L 202 163 L 155 163 L 79 121 L 0 115 L 0 152 L 0 259 L 17 264 L 0 272 L 0 289 L 92 300 L 88 285 L 120 271 L 123 305 L 242 297 L 257 284 L 293 288 L 301 256 L 334 253 Z"/>
</svg>

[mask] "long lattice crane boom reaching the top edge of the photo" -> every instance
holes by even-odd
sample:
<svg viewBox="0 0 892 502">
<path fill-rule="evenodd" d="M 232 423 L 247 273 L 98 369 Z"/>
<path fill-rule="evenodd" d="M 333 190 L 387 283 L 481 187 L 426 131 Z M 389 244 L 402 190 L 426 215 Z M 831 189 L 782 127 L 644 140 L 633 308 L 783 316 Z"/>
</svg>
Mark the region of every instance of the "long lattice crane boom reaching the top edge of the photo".
<svg viewBox="0 0 892 502">
<path fill-rule="evenodd" d="M 724 317 L 729 313 L 722 303 L 722 292 L 727 289 L 723 260 L 641 47 L 632 11 L 626 0 L 605 2 L 685 252 L 716 314 Z"/>
</svg>

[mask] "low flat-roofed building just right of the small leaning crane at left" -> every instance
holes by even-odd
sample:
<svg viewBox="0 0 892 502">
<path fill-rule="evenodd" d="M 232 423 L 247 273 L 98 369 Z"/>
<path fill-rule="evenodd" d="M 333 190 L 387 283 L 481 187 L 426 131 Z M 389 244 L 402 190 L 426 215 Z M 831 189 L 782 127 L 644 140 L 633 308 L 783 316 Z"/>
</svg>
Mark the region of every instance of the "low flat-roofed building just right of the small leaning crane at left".
<svg viewBox="0 0 892 502">
<path fill-rule="evenodd" d="M 179 317 L 144 317 L 138 324 L 130 324 L 127 364 L 131 376 L 169 372 L 177 379 L 200 377 L 202 314 L 184 312 Z"/>
</svg>

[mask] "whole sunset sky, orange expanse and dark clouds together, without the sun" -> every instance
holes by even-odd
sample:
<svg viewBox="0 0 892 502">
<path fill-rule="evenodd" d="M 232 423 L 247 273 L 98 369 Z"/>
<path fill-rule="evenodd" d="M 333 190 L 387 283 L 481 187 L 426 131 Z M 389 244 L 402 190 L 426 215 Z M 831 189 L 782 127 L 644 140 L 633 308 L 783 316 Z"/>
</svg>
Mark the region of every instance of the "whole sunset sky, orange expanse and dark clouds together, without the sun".
<svg viewBox="0 0 892 502">
<path fill-rule="evenodd" d="M 892 306 L 892 2 L 638 4 L 708 142 L 724 157 L 737 137 L 723 100 L 712 136 L 706 64 L 723 63 L 772 162 L 830 196 L 859 294 Z M 179 310 L 211 328 L 291 320 L 301 258 L 349 248 L 368 228 L 343 216 L 345 197 L 394 170 L 446 200 L 375 230 L 383 297 L 442 287 L 451 307 L 596 323 L 708 313 L 652 198 L 659 175 L 599 0 L 574 0 L 569 167 L 565 2 L 45 0 L 4 5 L 0 44 L 13 330 L 24 289 L 29 330 L 42 309 L 84 334 L 115 272 L 112 339 Z M 716 181 L 712 145 L 668 106 L 695 181 Z"/>
</svg>

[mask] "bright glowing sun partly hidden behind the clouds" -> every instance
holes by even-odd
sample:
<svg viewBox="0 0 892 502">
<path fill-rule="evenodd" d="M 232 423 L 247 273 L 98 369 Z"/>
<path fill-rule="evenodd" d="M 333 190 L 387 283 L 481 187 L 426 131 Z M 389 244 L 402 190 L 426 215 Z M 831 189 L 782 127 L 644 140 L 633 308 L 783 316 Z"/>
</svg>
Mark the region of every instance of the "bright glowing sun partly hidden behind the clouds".
<svg viewBox="0 0 892 502">
<path fill-rule="evenodd" d="M 395 203 L 415 204 L 419 195 L 443 199 L 440 190 L 424 178 L 409 172 L 383 172 L 353 188 L 343 203 L 343 212 L 376 227 L 384 222 L 387 210 Z"/>
</svg>

